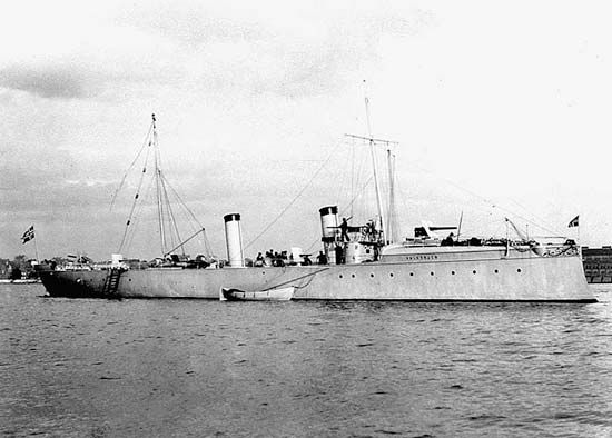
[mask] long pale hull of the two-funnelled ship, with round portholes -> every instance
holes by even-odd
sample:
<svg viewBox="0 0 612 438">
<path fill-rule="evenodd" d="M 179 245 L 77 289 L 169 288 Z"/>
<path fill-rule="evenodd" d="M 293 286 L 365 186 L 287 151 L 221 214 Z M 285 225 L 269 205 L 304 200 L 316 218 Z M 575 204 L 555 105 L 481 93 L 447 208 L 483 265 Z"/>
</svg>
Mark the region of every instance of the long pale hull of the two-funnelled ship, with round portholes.
<svg viewBox="0 0 612 438">
<path fill-rule="evenodd" d="M 218 299 L 220 288 L 231 286 L 295 287 L 294 299 L 317 300 L 594 301 L 578 256 L 462 252 L 397 255 L 387 257 L 394 261 L 359 265 L 129 270 L 121 275 L 116 297 Z M 106 277 L 107 271 L 49 272 L 43 282 L 53 296 L 103 297 Z"/>
</svg>

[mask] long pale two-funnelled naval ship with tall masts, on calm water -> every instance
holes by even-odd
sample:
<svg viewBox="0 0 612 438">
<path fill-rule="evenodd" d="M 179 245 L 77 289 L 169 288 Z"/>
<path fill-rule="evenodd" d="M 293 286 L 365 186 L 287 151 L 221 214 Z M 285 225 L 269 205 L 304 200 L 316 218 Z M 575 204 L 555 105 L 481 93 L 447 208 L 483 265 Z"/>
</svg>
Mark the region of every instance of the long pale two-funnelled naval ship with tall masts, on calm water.
<svg viewBox="0 0 612 438">
<path fill-rule="evenodd" d="M 155 145 L 155 116 L 151 130 Z M 71 298 L 218 300 L 223 288 L 263 292 L 293 288 L 293 300 L 596 301 L 585 280 L 580 247 L 571 239 L 540 243 L 524 237 L 511 239 L 507 232 L 503 239 L 461 239 L 458 232 L 442 238 L 440 231 L 456 227 L 425 222 L 414 229 L 413 237 L 394 236 L 393 202 L 383 208 L 374 158 L 374 148 L 389 142 L 371 133 L 351 137 L 367 142 L 372 150 L 377 215 L 365 225 L 347 226 L 337 205 L 318 208 L 320 251 L 315 262 L 299 248 L 293 248 L 288 257 L 249 262 L 244 253 L 240 213 L 231 212 L 224 216 L 224 260 L 191 262 L 165 251 L 159 266 L 130 269 L 121 261 L 122 256 L 115 256 L 105 268 L 41 272 L 42 283 L 50 296 Z M 387 157 L 392 169 L 391 149 Z M 155 175 L 164 185 L 161 171 L 156 168 Z M 506 222 L 514 227 L 510 219 Z M 161 225 L 159 229 L 164 235 Z"/>
</svg>

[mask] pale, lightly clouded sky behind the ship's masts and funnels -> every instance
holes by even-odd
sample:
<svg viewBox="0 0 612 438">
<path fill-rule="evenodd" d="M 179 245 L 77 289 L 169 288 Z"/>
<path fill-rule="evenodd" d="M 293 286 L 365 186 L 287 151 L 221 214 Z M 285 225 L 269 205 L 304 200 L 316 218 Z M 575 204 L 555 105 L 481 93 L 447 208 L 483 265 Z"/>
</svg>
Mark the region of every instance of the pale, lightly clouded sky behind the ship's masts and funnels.
<svg viewBox="0 0 612 438">
<path fill-rule="evenodd" d="M 359 187 L 373 192 L 356 186 L 366 177 L 347 177 L 367 153 L 345 137 L 368 135 L 366 94 L 372 135 L 398 142 L 405 235 L 463 215 L 465 233 L 504 235 L 510 217 L 542 239 L 612 243 L 605 1 L 2 9 L 0 257 L 109 259 L 136 186 L 112 209 L 111 199 L 154 112 L 165 175 L 217 255 L 228 212 L 241 213 L 248 256 L 316 250 L 318 209 L 339 203 L 349 215 Z M 569 229 L 576 215 L 580 230 Z M 22 245 L 30 225 L 36 241 Z M 126 256 L 159 255 L 145 212 L 140 225 Z"/>
</svg>

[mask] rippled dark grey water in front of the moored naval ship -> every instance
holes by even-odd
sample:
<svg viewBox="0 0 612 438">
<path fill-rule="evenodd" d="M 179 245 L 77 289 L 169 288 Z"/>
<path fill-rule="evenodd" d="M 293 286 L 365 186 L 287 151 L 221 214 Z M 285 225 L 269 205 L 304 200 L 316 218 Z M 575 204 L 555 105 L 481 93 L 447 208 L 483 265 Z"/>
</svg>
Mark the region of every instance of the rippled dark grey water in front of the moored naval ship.
<svg viewBox="0 0 612 438">
<path fill-rule="evenodd" d="M 594 305 L 42 298 L 0 285 L 4 436 L 612 435 Z"/>
</svg>

